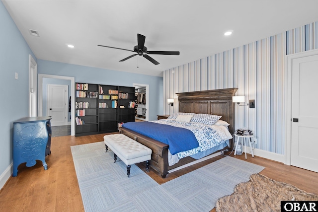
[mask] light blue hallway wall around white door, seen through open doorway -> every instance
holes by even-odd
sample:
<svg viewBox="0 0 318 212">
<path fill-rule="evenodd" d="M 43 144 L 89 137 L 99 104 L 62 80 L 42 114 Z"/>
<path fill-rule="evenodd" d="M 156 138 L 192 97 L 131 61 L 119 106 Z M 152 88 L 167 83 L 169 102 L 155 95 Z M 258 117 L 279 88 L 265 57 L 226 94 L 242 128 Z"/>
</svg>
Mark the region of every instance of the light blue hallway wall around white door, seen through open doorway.
<svg viewBox="0 0 318 212">
<path fill-rule="evenodd" d="M 68 101 L 71 96 L 71 80 L 65 80 L 65 79 L 55 79 L 55 78 L 43 78 L 43 96 L 42 96 L 42 106 L 43 106 L 43 116 L 47 116 L 47 96 L 48 96 L 48 84 L 57 84 L 57 85 L 67 85 L 68 86 Z M 69 111 L 69 110 L 68 110 Z M 71 112 L 68 112 L 68 122 L 71 122 Z"/>
</svg>

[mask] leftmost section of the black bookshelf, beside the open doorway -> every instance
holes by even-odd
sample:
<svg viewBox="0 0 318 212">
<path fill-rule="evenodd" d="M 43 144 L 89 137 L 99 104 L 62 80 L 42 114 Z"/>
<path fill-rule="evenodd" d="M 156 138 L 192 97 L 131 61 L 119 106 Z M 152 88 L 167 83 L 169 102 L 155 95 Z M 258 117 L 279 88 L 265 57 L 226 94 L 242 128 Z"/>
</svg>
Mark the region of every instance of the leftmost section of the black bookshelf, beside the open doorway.
<svg viewBox="0 0 318 212">
<path fill-rule="evenodd" d="M 98 133 L 97 85 L 76 83 L 76 136 Z"/>
</svg>

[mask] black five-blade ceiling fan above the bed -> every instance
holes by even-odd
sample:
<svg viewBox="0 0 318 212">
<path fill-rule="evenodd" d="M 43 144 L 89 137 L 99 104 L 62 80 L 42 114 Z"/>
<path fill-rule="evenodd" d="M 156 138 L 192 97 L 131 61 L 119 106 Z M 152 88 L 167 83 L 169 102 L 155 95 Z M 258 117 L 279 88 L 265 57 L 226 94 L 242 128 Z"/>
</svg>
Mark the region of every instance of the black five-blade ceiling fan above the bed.
<svg viewBox="0 0 318 212">
<path fill-rule="evenodd" d="M 129 50 L 129 49 L 121 49 L 121 48 L 116 48 L 116 47 L 111 47 L 111 46 L 103 46 L 103 45 L 97 45 L 97 46 L 102 46 L 102 47 L 107 47 L 107 48 L 113 48 L 113 49 L 121 49 L 121 50 L 126 50 L 130 52 L 135 52 L 137 54 L 131 55 L 127 58 L 124 58 L 123 60 L 119 62 L 123 62 L 125 60 L 128 60 L 129 58 L 135 57 L 136 55 L 143 56 L 150 62 L 152 62 L 155 65 L 158 65 L 159 62 L 150 57 L 149 55 L 180 55 L 180 52 L 171 52 L 171 51 L 148 51 L 147 47 L 145 47 L 145 40 L 146 36 L 137 34 L 137 41 L 138 45 L 134 47 L 134 50 Z M 146 55 L 147 54 L 147 55 Z"/>
</svg>

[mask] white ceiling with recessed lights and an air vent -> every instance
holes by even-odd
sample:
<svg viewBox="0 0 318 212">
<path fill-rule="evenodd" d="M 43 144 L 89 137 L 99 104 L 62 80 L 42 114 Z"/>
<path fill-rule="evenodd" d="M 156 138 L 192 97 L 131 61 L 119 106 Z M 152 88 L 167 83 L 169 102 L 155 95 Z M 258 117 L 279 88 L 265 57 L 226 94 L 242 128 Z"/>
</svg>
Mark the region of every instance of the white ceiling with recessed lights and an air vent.
<svg viewBox="0 0 318 212">
<path fill-rule="evenodd" d="M 318 0 L 2 0 L 37 59 L 162 76 L 162 71 L 318 21 Z M 39 37 L 28 29 L 37 30 Z M 231 36 L 224 32 L 233 30 Z M 137 33 L 160 64 L 132 52 Z M 67 47 L 73 44 L 74 49 Z M 139 66 L 139 68 L 137 68 Z"/>
</svg>

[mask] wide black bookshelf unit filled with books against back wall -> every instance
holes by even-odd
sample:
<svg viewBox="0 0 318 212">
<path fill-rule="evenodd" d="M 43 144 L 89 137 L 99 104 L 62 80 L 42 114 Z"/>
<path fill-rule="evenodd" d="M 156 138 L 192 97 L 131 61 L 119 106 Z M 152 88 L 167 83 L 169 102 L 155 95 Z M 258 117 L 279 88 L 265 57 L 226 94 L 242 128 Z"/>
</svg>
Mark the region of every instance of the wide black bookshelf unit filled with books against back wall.
<svg viewBox="0 0 318 212">
<path fill-rule="evenodd" d="M 76 83 L 76 96 L 76 136 L 117 132 L 119 123 L 135 121 L 135 87 Z"/>
</svg>

